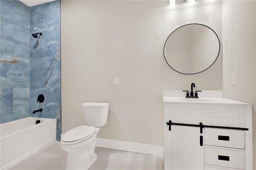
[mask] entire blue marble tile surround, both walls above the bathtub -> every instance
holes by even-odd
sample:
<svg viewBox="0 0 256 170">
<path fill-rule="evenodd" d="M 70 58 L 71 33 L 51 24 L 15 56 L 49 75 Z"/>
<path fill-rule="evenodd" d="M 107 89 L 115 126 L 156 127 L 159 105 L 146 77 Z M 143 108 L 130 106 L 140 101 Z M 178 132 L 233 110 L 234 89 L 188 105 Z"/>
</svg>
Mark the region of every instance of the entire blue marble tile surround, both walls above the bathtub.
<svg viewBox="0 0 256 170">
<path fill-rule="evenodd" d="M 0 9 L 0 123 L 29 116 L 57 119 L 60 140 L 60 1 L 28 7 L 1 0 Z M 31 36 L 38 32 L 39 38 Z M 43 103 L 37 103 L 39 94 Z"/>
</svg>

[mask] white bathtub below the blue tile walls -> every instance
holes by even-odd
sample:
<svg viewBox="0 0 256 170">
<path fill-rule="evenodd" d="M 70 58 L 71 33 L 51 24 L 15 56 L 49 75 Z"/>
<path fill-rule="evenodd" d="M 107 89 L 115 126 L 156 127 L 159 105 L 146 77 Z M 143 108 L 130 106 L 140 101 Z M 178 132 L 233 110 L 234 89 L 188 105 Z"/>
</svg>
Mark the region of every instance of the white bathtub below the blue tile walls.
<svg viewBox="0 0 256 170">
<path fill-rule="evenodd" d="M 56 119 L 27 117 L 1 124 L 0 169 L 14 166 L 54 141 Z"/>
</svg>

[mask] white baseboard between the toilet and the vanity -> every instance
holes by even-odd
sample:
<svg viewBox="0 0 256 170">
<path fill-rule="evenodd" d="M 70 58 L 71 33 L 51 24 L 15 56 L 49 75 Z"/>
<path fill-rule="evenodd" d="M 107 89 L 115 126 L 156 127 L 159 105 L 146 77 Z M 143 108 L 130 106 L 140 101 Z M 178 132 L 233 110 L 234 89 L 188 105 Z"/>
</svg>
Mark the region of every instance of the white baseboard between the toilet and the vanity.
<svg viewBox="0 0 256 170">
<path fill-rule="evenodd" d="M 164 153 L 163 146 L 125 142 L 120 140 L 102 139 L 102 138 L 97 138 L 96 147 L 124 150 L 128 152 L 137 152 L 137 153 L 150 154 L 150 155 L 156 155 L 156 156 L 162 156 L 162 157 Z"/>
</svg>

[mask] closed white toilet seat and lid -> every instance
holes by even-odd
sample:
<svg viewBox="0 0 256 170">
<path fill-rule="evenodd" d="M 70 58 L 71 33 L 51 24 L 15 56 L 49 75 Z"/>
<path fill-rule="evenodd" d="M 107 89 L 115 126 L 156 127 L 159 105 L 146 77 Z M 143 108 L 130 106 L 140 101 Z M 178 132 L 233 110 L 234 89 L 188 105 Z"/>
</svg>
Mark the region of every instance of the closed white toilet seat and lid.
<svg viewBox="0 0 256 170">
<path fill-rule="evenodd" d="M 92 126 L 80 126 L 73 128 L 68 130 L 68 132 L 62 136 L 61 144 L 67 145 L 81 142 L 93 136 L 95 131 L 95 127 Z"/>
</svg>

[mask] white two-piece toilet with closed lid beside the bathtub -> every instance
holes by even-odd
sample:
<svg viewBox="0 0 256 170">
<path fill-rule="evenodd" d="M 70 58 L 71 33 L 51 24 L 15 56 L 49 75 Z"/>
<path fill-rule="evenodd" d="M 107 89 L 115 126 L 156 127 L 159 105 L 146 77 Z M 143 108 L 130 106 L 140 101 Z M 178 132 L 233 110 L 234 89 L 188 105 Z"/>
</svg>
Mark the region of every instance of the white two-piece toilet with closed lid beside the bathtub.
<svg viewBox="0 0 256 170">
<path fill-rule="evenodd" d="M 73 128 L 61 138 L 61 148 L 68 152 L 66 170 L 88 170 L 97 155 L 94 153 L 100 127 L 106 125 L 109 103 L 83 103 L 84 125 Z"/>
</svg>

